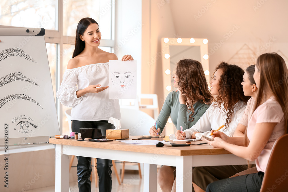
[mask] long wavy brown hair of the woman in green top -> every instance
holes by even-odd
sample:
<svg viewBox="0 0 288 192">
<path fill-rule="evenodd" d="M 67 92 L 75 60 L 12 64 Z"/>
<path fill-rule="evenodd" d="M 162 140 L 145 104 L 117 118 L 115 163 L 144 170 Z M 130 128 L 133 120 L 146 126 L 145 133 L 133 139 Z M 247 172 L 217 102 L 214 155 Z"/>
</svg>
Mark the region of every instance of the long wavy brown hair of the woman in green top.
<svg viewBox="0 0 288 192">
<path fill-rule="evenodd" d="M 175 75 L 179 79 L 177 86 L 182 92 L 182 96 L 187 105 L 187 111 L 192 111 L 189 115 L 189 121 L 194 121 L 192 116 L 194 114 L 193 104 L 195 101 L 198 100 L 210 105 L 213 100 L 202 64 L 193 59 L 179 60 Z"/>
</svg>

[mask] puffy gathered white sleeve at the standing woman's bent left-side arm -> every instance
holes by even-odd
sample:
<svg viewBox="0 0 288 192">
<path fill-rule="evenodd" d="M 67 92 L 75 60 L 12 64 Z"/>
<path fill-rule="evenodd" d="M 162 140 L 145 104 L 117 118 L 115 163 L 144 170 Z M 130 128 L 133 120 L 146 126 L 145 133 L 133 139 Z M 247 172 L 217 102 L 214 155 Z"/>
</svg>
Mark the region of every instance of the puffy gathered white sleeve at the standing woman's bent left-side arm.
<svg viewBox="0 0 288 192">
<path fill-rule="evenodd" d="M 80 89 L 77 88 L 77 71 L 66 70 L 63 75 L 63 81 L 56 92 L 56 97 L 66 107 L 74 107 L 81 102 L 83 96 L 77 98 L 76 92 Z"/>
</svg>

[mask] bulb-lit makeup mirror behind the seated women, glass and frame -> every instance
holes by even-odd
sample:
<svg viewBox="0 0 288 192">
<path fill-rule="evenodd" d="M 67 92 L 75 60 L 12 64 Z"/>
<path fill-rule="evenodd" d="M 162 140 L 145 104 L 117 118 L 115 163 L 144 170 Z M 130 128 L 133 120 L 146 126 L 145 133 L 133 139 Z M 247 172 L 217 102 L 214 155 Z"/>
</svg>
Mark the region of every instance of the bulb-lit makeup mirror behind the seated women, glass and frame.
<svg viewBox="0 0 288 192">
<path fill-rule="evenodd" d="M 209 56 L 208 56 L 208 40 L 196 38 L 162 38 L 162 70 L 163 70 L 163 87 L 164 99 L 171 91 L 175 91 L 174 79 L 172 78 L 175 64 L 180 59 L 194 59 L 201 62 L 204 73 L 209 85 Z M 166 124 L 165 135 L 175 133 L 173 123 Z M 172 122 L 172 121 L 171 121 Z M 170 124 L 170 126 L 168 125 Z M 172 124 L 172 125 L 171 125 Z"/>
</svg>

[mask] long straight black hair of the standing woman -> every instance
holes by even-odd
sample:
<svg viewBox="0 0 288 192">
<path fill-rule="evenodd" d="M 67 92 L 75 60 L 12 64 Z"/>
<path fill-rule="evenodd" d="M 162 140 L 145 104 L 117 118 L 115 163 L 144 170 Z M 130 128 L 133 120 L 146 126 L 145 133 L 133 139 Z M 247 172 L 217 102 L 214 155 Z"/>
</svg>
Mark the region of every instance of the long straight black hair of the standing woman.
<svg viewBox="0 0 288 192">
<path fill-rule="evenodd" d="M 79 21 L 76 29 L 75 49 L 72 58 L 74 58 L 84 50 L 85 42 L 80 39 L 79 35 L 83 35 L 84 31 L 91 23 L 96 23 L 98 25 L 97 21 L 89 17 L 83 18 Z"/>
</svg>

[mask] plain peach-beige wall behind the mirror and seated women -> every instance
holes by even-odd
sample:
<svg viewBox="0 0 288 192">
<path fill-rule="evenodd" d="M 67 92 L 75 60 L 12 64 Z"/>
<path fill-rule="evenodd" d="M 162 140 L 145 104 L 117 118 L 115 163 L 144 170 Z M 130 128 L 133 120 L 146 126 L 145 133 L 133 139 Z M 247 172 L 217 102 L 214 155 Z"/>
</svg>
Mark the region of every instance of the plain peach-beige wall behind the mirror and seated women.
<svg viewBox="0 0 288 192">
<path fill-rule="evenodd" d="M 221 61 L 245 68 L 264 52 L 288 62 L 287 7 L 287 0 L 143 1 L 142 93 L 156 93 L 162 108 L 162 37 L 208 39 L 210 74 Z"/>
</svg>

